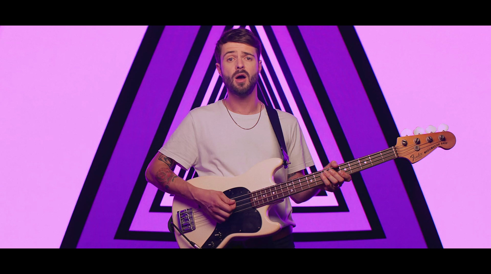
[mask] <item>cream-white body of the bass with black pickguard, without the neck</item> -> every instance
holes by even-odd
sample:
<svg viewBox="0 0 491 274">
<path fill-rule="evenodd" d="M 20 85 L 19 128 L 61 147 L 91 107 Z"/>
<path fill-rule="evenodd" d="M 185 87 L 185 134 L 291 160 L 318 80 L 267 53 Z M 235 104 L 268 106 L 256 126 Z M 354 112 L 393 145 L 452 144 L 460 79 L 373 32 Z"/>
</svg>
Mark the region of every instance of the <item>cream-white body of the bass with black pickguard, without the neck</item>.
<svg viewBox="0 0 491 274">
<path fill-rule="evenodd" d="M 272 158 L 254 165 L 246 173 L 236 177 L 203 176 L 193 178 L 188 182 L 198 188 L 224 192 L 228 197 L 230 197 L 228 192 L 235 191 L 235 196 L 230 197 L 233 198 L 247 194 L 247 191 L 254 192 L 275 185 L 273 175 L 282 167 L 282 159 Z M 246 190 L 244 187 L 246 187 Z M 232 190 L 234 188 L 238 189 Z M 244 193 L 239 193 L 239 191 Z M 241 209 L 239 200 L 240 198 L 236 199 L 236 210 Z M 250 202 L 250 199 L 247 198 L 242 204 Z M 243 206 L 243 208 L 245 207 L 250 207 L 250 204 L 249 206 Z M 237 213 L 234 212 L 225 222 L 217 223 L 217 221 L 206 215 L 196 202 L 180 196 L 174 196 L 172 221 L 179 229 L 184 231 L 186 227 L 181 224 L 180 220 L 180 216 L 182 217 L 183 214 L 179 212 L 191 209 L 192 217 L 188 217 L 192 219 L 191 226 L 194 226 L 194 230 L 185 232 L 184 235 L 198 247 L 222 248 L 234 238 L 262 237 L 279 231 L 281 229 L 280 224 L 270 220 L 268 217 L 270 207 L 271 204 L 268 204 Z M 254 227 L 251 227 L 252 225 Z M 194 248 L 176 229 L 174 229 L 174 234 L 180 248 Z"/>
</svg>

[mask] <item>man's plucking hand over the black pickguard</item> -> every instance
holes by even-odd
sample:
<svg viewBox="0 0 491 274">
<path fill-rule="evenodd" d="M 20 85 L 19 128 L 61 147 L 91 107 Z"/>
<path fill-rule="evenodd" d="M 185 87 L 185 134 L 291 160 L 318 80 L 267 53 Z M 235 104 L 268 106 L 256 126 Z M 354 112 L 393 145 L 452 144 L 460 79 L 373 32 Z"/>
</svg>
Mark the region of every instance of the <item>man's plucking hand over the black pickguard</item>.
<svg viewBox="0 0 491 274">
<path fill-rule="evenodd" d="M 195 195 L 201 209 L 217 222 L 224 222 L 235 209 L 235 200 L 225 196 L 223 192 L 200 189 Z"/>
</svg>

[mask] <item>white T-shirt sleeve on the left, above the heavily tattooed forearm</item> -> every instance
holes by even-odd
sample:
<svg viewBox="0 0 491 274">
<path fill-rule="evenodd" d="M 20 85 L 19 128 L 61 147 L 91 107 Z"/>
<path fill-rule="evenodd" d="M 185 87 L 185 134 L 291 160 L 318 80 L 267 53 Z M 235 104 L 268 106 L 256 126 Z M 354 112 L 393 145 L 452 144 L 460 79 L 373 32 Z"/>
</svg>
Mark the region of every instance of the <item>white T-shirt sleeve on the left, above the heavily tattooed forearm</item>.
<svg viewBox="0 0 491 274">
<path fill-rule="evenodd" d="M 160 153 L 172 158 L 182 168 L 188 170 L 196 164 L 198 148 L 196 143 L 196 131 L 191 113 L 184 117 L 171 137 L 159 150 Z"/>
</svg>

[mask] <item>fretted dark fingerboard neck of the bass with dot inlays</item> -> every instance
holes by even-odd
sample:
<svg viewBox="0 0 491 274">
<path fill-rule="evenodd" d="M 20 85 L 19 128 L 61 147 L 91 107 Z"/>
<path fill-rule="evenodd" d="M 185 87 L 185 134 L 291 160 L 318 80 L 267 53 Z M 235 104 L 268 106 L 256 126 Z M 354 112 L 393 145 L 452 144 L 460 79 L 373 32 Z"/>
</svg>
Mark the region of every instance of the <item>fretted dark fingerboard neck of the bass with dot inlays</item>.
<svg viewBox="0 0 491 274">
<path fill-rule="evenodd" d="M 393 160 L 397 157 L 398 155 L 395 147 L 390 147 L 377 153 L 370 154 L 343 164 L 339 164 L 339 168 L 329 167 L 308 174 L 306 176 L 296 178 L 294 180 L 286 181 L 282 184 L 277 184 L 268 188 L 251 192 L 251 204 L 254 207 L 260 207 L 266 204 L 274 203 L 296 193 L 323 185 L 324 182 L 321 179 L 321 173 L 328 169 L 342 169 L 348 174 L 353 174 L 372 166 Z"/>
</svg>

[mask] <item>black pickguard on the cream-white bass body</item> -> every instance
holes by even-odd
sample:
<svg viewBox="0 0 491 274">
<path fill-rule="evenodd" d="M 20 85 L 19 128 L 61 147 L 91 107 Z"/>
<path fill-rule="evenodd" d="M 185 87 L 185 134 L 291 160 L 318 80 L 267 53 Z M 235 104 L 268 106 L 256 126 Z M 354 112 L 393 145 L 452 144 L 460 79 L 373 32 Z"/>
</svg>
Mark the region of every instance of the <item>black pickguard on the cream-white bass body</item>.
<svg viewBox="0 0 491 274">
<path fill-rule="evenodd" d="M 233 233 L 256 233 L 261 229 L 261 214 L 252 207 L 249 195 L 245 195 L 250 193 L 246 188 L 233 188 L 223 193 L 235 199 L 236 209 L 226 221 L 217 223 L 214 232 L 201 248 L 216 248 L 225 237 Z"/>
</svg>

